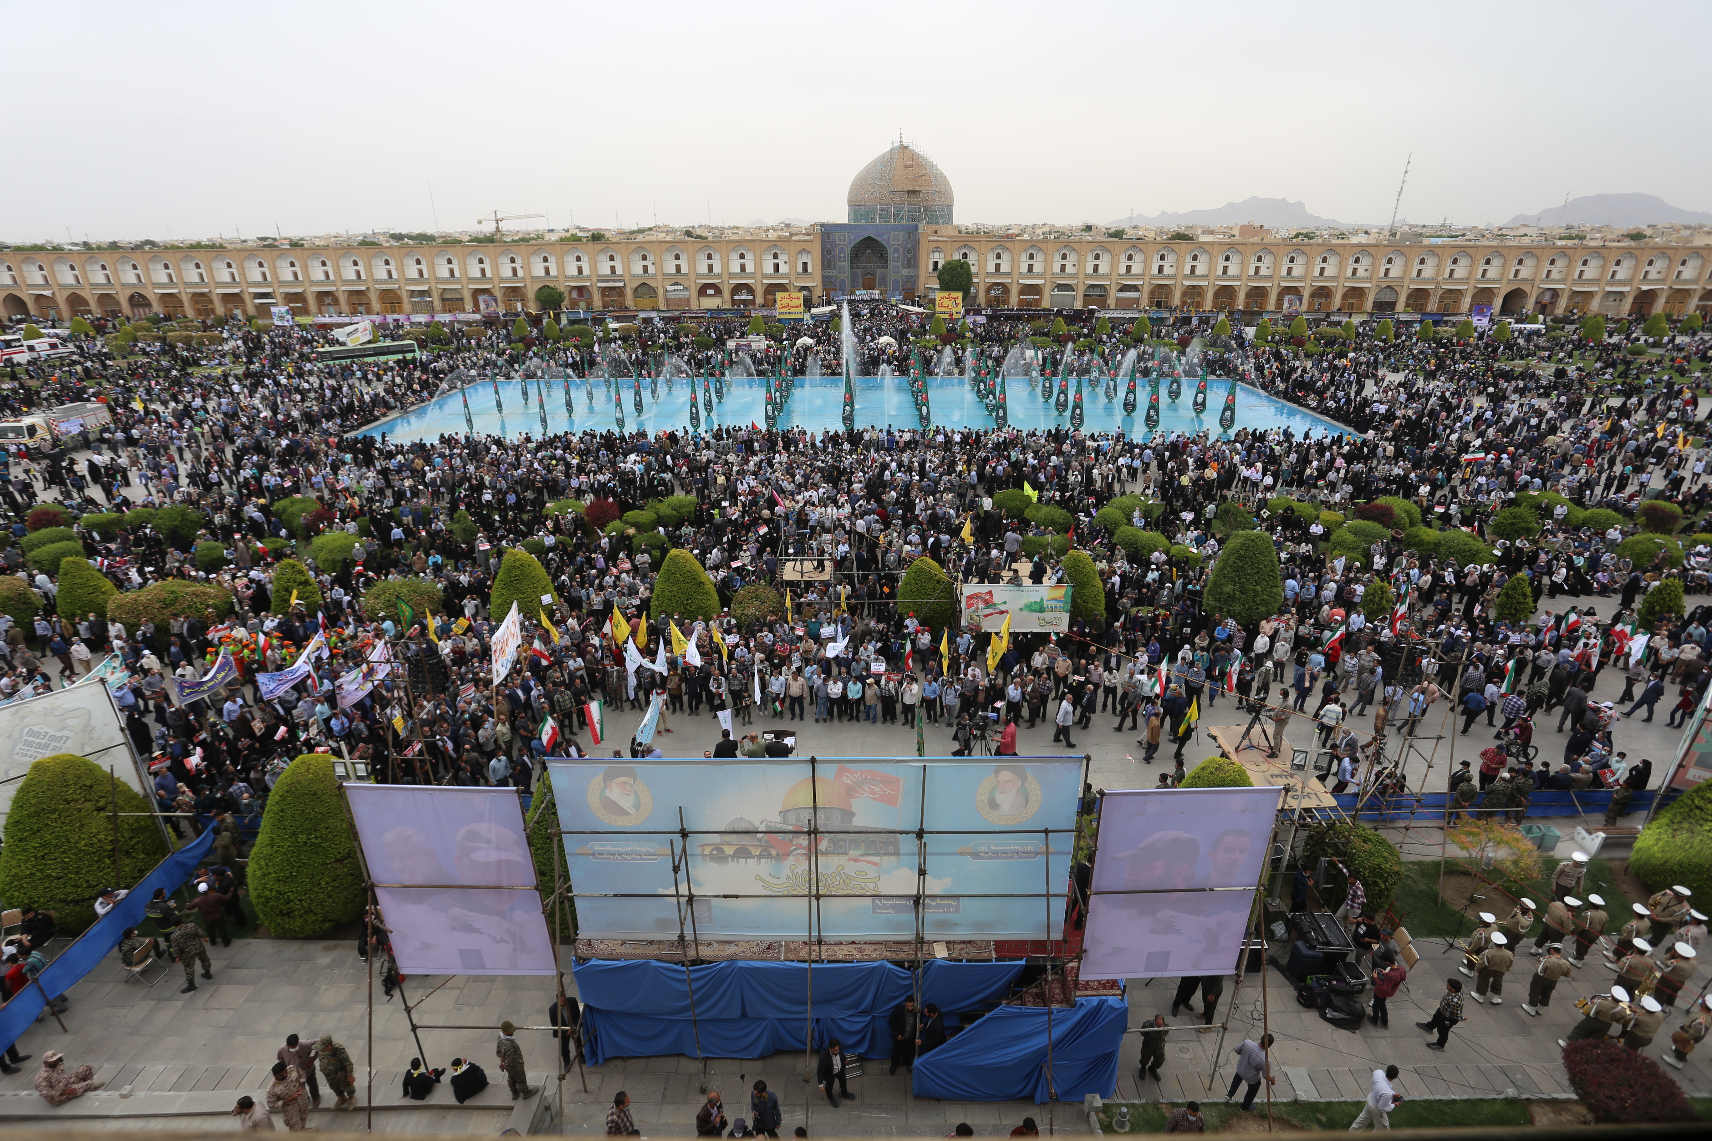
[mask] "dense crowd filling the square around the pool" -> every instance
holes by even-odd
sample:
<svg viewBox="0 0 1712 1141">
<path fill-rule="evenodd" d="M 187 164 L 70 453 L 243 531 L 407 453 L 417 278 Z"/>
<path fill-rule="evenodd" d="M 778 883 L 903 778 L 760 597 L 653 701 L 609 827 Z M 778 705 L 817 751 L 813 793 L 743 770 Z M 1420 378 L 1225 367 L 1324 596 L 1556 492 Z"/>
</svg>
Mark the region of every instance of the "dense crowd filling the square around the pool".
<svg viewBox="0 0 1712 1141">
<path fill-rule="evenodd" d="M 704 322 L 695 335 L 722 346 L 748 332 L 728 323 Z M 863 371 L 907 368 L 911 339 L 924 332 L 924 315 L 885 306 L 853 323 Z M 1003 368 L 1039 332 L 998 316 L 974 330 L 950 347 L 948 366 L 960 371 L 967 354 L 976 368 Z M 1128 351 L 1123 328 L 1077 332 L 1087 335 L 1049 344 L 1034 366 L 1104 375 Z M 1173 741 L 1181 758 L 1193 715 L 1233 698 L 1284 706 L 1286 720 L 1311 717 L 1351 761 L 1371 756 L 1371 734 L 1354 730 L 1370 710 L 1375 729 L 1412 729 L 1438 701 L 1457 706 L 1464 730 L 1481 712 L 1488 724 L 1501 713 L 1495 732 L 1522 756 L 1537 746 L 1532 715 L 1563 706 L 1573 724 L 1561 760 L 1543 756 L 1531 777 L 1531 761 L 1505 773 L 1532 787 L 1565 765 L 1633 778 L 1613 739 L 1625 710 L 1592 700 L 1608 665 L 1630 712 L 1650 717 L 1673 688 L 1671 701 L 1691 708 L 1707 681 L 1700 611 L 1678 602 L 1635 618 L 1661 585 L 1693 594 L 1707 582 L 1698 541 L 1709 537 L 1673 518 L 1691 539 L 1667 539 L 1645 510 L 1662 500 L 1688 520 L 1712 494 L 1690 424 L 1693 390 L 1664 371 L 1698 366 L 1698 339 L 1669 339 L 1642 369 L 1626 352 L 1635 335 L 1575 356 L 1573 337 L 1385 340 L 1371 322 L 1318 352 L 1214 335 L 1205 315 L 1154 334 L 1210 337 L 1216 375 L 1248 376 L 1356 431 L 724 426 L 409 443 L 356 429 L 426 400 L 457 368 L 515 368 L 508 327 L 457 332 L 421 363 L 382 366 L 317 361 L 306 330 L 235 325 L 217 352 L 149 344 L 123 359 L 92 340 L 72 361 L 19 369 L 0 397 L 17 414 L 99 395 L 113 416 L 80 441 L 86 452 L 14 446 L 7 457 L 0 494 L 19 522 L 3 556 L 41 614 L 0 618 L 14 626 L 0 688 L 41 691 L 55 684 L 55 662 L 72 679 L 111 652 L 115 691 L 135 742 L 156 756 L 163 804 L 240 816 L 259 813 L 282 766 L 312 748 L 366 758 L 394 780 L 529 785 L 550 751 L 543 734 L 563 734 L 553 751 L 594 748 L 591 701 L 644 708 L 654 693 L 663 732 L 675 717 L 681 727 L 719 710 L 745 725 L 919 720 L 950 734 L 935 751 L 964 753 L 1015 751 L 1019 722 L 1053 724 L 1055 741 L 1073 748 L 1073 730 L 1108 713 L 1138 734 L 1147 760 Z M 800 337 L 811 344 L 794 346 L 793 330 L 777 352 L 793 369 L 808 352 L 835 368 L 841 335 L 811 323 Z M 716 366 L 721 349 L 695 344 L 642 322 L 632 340 L 597 352 L 550 342 L 522 352 L 574 371 L 657 368 L 666 354 Z M 757 349 L 770 368 L 767 352 Z M 675 496 L 654 515 L 659 530 L 628 534 L 625 513 Z M 301 498 L 317 503 L 284 510 Z M 1373 510 L 1380 500 L 1383 511 Z M 137 628 L 65 614 L 56 576 L 24 549 L 22 520 L 41 503 L 65 508 L 82 553 L 122 594 L 207 583 L 229 594 L 231 611 Z M 1527 520 L 1505 513 L 1515 506 Z M 146 515 L 132 515 L 139 508 Z M 1221 549 L 1246 529 L 1270 535 L 1284 600 L 1238 623 L 1205 592 Z M 354 542 L 318 565 L 310 541 L 329 532 Z M 526 542 L 558 602 L 524 614 L 527 652 L 495 684 L 490 648 L 505 619 L 490 611 L 495 575 Z M 668 549 L 692 553 L 719 595 L 717 614 L 676 616 L 693 650 L 656 621 L 671 616 L 652 612 Z M 276 583 L 288 556 L 306 565 L 313 590 Z M 945 568 L 952 587 L 1077 575 L 1075 619 L 1056 638 L 1019 636 L 990 667 L 988 636 L 962 628 L 955 595 L 906 585 L 919 558 Z M 1500 595 L 1517 576 L 1531 606 L 1500 621 Z M 377 585 L 409 578 L 438 587 L 435 612 L 395 607 L 395 592 L 373 604 Z M 789 602 L 757 602 L 745 592 L 757 585 Z M 1375 587 L 1399 599 L 1395 614 L 1364 604 Z M 1541 604 L 1549 621 L 1534 623 Z M 615 614 L 620 630 L 644 635 L 628 657 Z M 257 674 L 286 671 L 317 635 L 329 655 L 262 700 Z M 180 706 L 175 688 L 223 650 L 238 684 Z M 356 686 L 339 679 L 365 667 L 378 679 L 349 698 Z"/>
</svg>

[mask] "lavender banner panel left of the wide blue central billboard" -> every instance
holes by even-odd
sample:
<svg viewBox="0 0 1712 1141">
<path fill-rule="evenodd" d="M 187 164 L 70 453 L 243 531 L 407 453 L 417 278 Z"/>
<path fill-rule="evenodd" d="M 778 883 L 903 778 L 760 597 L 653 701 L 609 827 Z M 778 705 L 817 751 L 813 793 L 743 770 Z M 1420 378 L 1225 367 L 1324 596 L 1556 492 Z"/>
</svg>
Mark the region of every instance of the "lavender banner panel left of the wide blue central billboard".
<svg viewBox="0 0 1712 1141">
<path fill-rule="evenodd" d="M 553 973 L 515 789 L 344 790 L 402 973 Z"/>
</svg>

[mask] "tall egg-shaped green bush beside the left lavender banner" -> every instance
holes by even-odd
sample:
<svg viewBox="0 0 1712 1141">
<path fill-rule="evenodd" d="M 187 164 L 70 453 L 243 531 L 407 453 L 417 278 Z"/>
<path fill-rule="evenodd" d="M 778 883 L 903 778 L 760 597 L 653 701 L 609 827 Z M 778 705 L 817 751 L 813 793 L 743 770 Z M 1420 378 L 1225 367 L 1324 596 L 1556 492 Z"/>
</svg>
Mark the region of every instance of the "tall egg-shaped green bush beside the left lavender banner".
<svg viewBox="0 0 1712 1141">
<path fill-rule="evenodd" d="M 291 761 L 267 797 L 250 852 L 250 902 L 281 939 L 312 939 L 363 913 L 363 869 L 330 756 Z"/>
</svg>

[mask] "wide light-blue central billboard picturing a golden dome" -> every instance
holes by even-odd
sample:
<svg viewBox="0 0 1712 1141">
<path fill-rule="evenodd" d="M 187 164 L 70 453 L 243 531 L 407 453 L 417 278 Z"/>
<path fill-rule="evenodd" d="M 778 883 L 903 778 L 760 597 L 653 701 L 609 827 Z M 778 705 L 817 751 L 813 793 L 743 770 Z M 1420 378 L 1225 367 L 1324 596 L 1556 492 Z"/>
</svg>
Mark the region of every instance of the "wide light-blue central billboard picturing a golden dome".
<svg viewBox="0 0 1712 1141">
<path fill-rule="evenodd" d="M 918 871 L 930 937 L 1063 922 L 1080 758 L 548 768 L 584 937 L 907 939 Z"/>
</svg>

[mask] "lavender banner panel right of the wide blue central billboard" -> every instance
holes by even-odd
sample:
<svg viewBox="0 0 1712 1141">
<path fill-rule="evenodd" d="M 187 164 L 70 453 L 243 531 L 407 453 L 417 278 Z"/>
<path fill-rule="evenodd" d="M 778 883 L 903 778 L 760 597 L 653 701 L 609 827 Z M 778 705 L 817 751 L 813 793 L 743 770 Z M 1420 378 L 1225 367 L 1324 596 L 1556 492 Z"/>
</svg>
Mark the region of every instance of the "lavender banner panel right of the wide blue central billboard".
<svg viewBox="0 0 1712 1141">
<path fill-rule="evenodd" d="M 1106 792 L 1082 977 L 1231 973 L 1272 845 L 1279 792 Z"/>
</svg>

